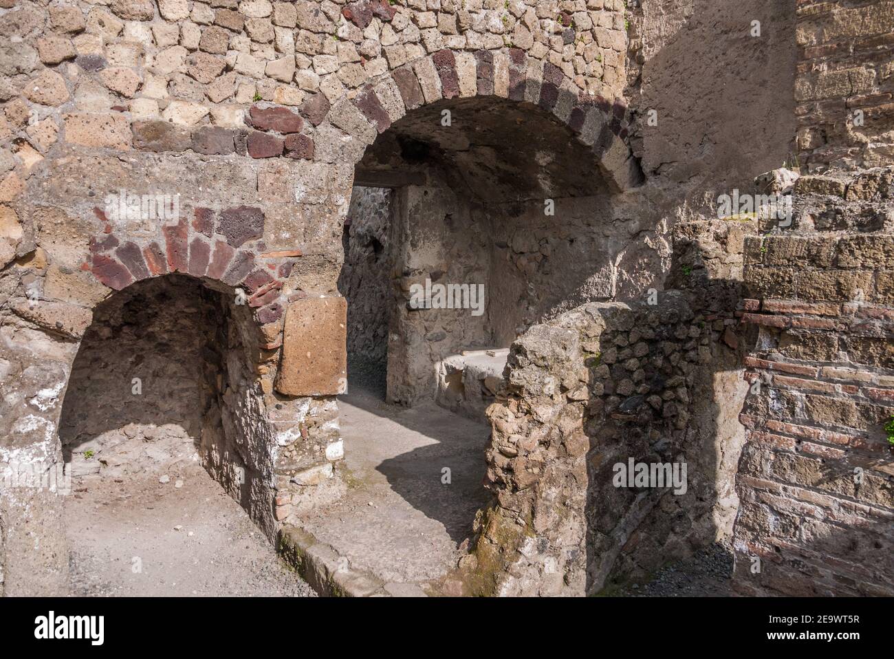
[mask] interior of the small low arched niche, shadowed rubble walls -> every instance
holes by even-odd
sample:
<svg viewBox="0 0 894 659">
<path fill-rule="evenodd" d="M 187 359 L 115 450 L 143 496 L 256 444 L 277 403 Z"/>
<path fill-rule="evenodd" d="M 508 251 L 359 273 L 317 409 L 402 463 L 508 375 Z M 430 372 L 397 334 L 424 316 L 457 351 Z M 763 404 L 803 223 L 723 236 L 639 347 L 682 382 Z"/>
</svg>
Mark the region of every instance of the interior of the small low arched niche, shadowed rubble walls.
<svg viewBox="0 0 894 659">
<path fill-rule="evenodd" d="M 167 275 L 97 305 L 59 436 L 75 476 L 161 473 L 198 458 L 264 528 L 273 460 L 251 368 L 253 320 L 220 289 Z"/>
</svg>

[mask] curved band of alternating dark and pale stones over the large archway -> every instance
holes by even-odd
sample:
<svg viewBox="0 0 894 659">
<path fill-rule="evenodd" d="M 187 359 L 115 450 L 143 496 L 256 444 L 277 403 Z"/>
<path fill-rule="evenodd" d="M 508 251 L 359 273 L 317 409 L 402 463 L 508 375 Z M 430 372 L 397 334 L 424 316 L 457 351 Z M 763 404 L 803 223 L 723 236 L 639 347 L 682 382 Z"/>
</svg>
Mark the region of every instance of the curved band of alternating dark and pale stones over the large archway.
<svg viewBox="0 0 894 659">
<path fill-rule="evenodd" d="M 366 148 L 410 110 L 465 97 L 500 97 L 539 106 L 593 152 L 612 191 L 629 190 L 643 182 L 638 160 L 627 143 L 626 106 L 620 100 L 581 92 L 561 68 L 528 57 L 519 48 L 476 53 L 439 50 L 384 73 L 332 106 L 321 97 L 304 109 L 315 126 L 329 122 Z M 362 153 L 358 149 L 355 164 Z"/>
</svg>

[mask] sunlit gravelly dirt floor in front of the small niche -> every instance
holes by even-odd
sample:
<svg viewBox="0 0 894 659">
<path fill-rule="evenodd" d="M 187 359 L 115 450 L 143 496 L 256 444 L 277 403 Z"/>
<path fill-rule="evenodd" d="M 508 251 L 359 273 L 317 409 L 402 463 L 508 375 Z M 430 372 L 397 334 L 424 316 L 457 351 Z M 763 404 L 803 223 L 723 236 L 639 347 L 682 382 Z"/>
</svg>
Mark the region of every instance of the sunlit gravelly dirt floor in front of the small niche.
<svg viewBox="0 0 894 659">
<path fill-rule="evenodd" d="M 73 596 L 314 595 L 198 462 L 168 477 L 74 479 L 65 497 Z"/>
</svg>

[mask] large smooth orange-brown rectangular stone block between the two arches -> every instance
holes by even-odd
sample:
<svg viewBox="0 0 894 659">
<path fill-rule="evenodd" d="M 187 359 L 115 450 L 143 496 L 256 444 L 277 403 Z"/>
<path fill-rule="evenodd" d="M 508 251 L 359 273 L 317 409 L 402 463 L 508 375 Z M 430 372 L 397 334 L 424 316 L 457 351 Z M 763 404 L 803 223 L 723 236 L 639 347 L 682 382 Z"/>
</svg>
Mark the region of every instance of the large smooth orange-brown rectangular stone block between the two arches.
<svg viewBox="0 0 894 659">
<path fill-rule="evenodd" d="M 291 396 L 344 393 L 348 302 L 342 297 L 289 303 L 276 390 Z"/>
</svg>

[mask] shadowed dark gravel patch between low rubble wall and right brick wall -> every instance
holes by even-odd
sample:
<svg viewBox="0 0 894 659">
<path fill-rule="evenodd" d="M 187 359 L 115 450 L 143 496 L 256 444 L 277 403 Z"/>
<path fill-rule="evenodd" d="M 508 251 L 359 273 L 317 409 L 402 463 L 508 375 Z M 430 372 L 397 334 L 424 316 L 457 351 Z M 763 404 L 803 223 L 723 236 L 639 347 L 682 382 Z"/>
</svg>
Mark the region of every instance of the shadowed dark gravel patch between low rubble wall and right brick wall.
<svg viewBox="0 0 894 659">
<path fill-rule="evenodd" d="M 645 584 L 621 589 L 622 597 L 729 597 L 732 577 L 732 547 L 716 542 L 690 559 L 668 565 Z"/>
</svg>

